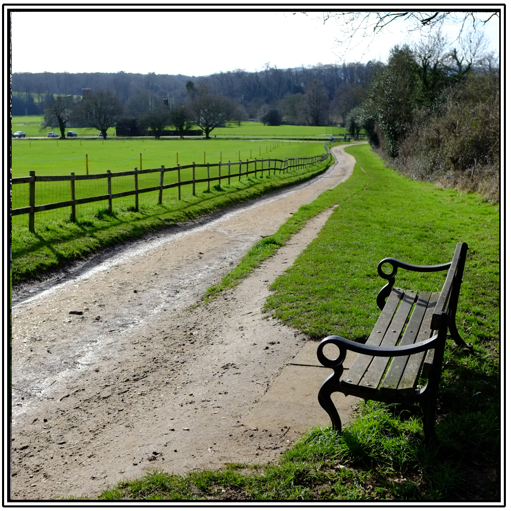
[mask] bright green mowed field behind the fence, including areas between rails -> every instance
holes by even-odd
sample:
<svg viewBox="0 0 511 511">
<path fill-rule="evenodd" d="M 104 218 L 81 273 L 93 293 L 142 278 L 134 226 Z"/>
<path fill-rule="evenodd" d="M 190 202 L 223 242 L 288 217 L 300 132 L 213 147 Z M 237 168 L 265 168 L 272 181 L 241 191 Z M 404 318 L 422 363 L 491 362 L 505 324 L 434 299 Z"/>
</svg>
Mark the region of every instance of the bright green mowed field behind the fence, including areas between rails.
<svg viewBox="0 0 511 511">
<path fill-rule="evenodd" d="M 137 169 L 159 169 L 162 166 L 176 167 L 207 164 L 215 165 L 210 168 L 209 177 L 218 176 L 218 162 L 228 161 L 238 162 L 247 160 L 263 159 L 286 159 L 298 158 L 304 156 L 314 156 L 325 152 L 324 142 L 307 141 L 274 141 L 274 140 L 223 140 L 223 139 L 155 139 L 155 138 L 136 138 L 136 139 L 117 139 L 110 138 L 106 141 L 102 139 L 80 139 L 70 138 L 66 140 L 48 139 L 48 140 L 26 140 L 24 138 L 12 141 L 12 176 L 25 177 L 29 171 L 35 171 L 36 176 L 69 176 L 72 172 L 75 175 L 85 175 L 86 165 L 88 174 L 105 174 L 107 170 L 112 173 L 132 171 Z M 87 155 L 87 158 L 85 157 Z M 142 160 L 142 162 L 141 162 Z M 86 163 L 87 162 L 87 163 Z M 254 170 L 251 164 L 248 170 Z M 257 169 L 274 167 L 273 162 L 265 161 L 258 163 Z M 280 167 L 280 164 L 277 164 Z M 222 166 L 222 176 L 234 175 L 240 172 L 240 165 Z M 247 166 L 241 168 L 241 172 L 246 172 Z M 272 177 L 273 172 L 263 172 L 264 177 Z M 271 175 L 268 175 L 271 174 Z M 280 174 L 276 171 L 276 175 Z M 197 168 L 195 170 L 196 179 L 208 177 L 206 168 Z M 255 177 L 253 174 L 248 177 Z M 258 173 L 259 178 L 262 174 Z M 141 174 L 138 176 L 138 189 L 156 187 L 159 184 L 160 172 Z M 183 169 L 180 171 L 179 180 L 187 181 L 192 179 L 192 169 Z M 213 187 L 220 185 L 225 187 L 227 184 L 233 184 L 234 180 L 247 179 L 246 176 L 233 177 L 233 179 L 224 179 L 221 183 L 212 182 L 199 183 L 196 186 L 196 194 L 203 193 Z M 177 182 L 177 171 L 166 172 L 164 175 L 164 185 Z M 112 178 L 112 193 L 126 192 L 134 190 L 134 177 L 114 177 Z M 101 179 L 78 180 L 75 183 L 75 197 L 81 199 L 85 197 L 95 197 L 108 193 L 107 180 Z M 186 199 L 192 194 L 192 185 L 181 187 L 181 198 Z M 35 188 L 35 203 L 50 204 L 69 200 L 71 198 L 71 189 L 69 181 L 45 181 L 37 182 Z M 173 188 L 165 190 L 163 193 L 164 201 L 173 201 L 178 199 L 178 190 Z M 140 195 L 141 204 L 156 203 L 158 192 L 149 192 Z M 24 207 L 29 204 L 29 185 L 14 184 L 12 187 L 12 208 Z M 123 197 L 114 200 L 114 208 L 133 207 L 133 196 Z M 95 214 L 101 208 L 105 208 L 106 201 L 92 202 L 77 206 L 77 214 Z M 57 220 L 60 217 L 69 216 L 69 208 L 59 210 L 50 210 L 36 214 L 36 222 L 46 223 Z M 24 226 L 27 223 L 27 215 L 13 217 L 13 228 Z"/>
</svg>

